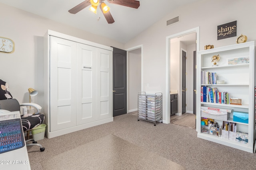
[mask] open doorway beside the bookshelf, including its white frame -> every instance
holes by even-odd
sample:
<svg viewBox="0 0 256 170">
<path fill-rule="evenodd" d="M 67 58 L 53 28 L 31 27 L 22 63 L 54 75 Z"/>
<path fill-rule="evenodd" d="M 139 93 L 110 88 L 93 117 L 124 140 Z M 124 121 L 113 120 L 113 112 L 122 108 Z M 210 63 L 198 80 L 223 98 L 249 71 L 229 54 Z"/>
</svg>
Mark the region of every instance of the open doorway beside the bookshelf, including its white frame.
<svg viewBox="0 0 256 170">
<path fill-rule="evenodd" d="M 169 62 L 169 72 L 168 72 L 168 88 L 170 94 L 168 94 L 168 111 L 169 111 L 169 122 L 172 115 L 172 100 L 171 94 L 177 94 L 178 97 L 178 111 L 175 116 L 181 116 L 182 110 L 186 114 L 194 113 L 193 111 L 193 96 L 194 92 L 193 82 L 196 81 L 193 75 L 194 69 L 194 51 L 198 51 L 199 47 L 199 27 L 178 33 L 167 37 L 166 43 L 168 43 L 168 62 Z M 186 72 L 182 78 L 182 51 L 186 52 Z M 184 54 L 184 53 L 183 53 Z M 184 69 L 183 69 L 184 70 Z M 182 89 L 182 79 L 185 80 L 185 89 Z M 182 96 L 182 91 L 185 90 L 185 95 Z M 183 101 L 183 103 L 182 103 Z M 184 104 L 185 102 L 185 104 Z M 185 106 L 182 108 L 182 106 Z M 194 121 L 195 122 L 195 121 Z"/>
</svg>

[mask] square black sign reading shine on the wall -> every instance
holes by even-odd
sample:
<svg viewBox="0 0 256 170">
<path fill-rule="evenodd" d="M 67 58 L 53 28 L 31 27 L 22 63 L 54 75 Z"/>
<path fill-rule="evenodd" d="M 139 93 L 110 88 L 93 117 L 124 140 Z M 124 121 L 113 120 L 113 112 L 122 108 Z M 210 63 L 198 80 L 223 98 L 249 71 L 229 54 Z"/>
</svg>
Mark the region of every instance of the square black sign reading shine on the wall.
<svg viewBox="0 0 256 170">
<path fill-rule="evenodd" d="M 217 40 L 236 37 L 236 21 L 218 25 Z"/>
</svg>

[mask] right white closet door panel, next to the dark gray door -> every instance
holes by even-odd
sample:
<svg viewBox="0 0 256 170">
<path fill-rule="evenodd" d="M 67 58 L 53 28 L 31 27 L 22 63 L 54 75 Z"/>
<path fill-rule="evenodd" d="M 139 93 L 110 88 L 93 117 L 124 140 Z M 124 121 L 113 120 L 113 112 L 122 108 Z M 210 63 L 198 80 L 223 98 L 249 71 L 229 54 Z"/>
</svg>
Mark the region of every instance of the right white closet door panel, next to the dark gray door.
<svg viewBox="0 0 256 170">
<path fill-rule="evenodd" d="M 98 49 L 97 119 L 112 117 L 112 51 Z"/>
</svg>

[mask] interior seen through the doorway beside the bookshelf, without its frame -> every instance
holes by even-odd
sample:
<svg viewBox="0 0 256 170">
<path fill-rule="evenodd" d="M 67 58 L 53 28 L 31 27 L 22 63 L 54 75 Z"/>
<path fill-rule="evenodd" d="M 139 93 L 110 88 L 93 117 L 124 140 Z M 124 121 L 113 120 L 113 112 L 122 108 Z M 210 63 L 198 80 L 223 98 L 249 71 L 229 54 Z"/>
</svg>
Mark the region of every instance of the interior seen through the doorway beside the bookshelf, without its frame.
<svg viewBox="0 0 256 170">
<path fill-rule="evenodd" d="M 178 94 L 178 113 L 193 113 L 193 52 L 196 32 L 170 39 L 170 92 Z"/>
</svg>

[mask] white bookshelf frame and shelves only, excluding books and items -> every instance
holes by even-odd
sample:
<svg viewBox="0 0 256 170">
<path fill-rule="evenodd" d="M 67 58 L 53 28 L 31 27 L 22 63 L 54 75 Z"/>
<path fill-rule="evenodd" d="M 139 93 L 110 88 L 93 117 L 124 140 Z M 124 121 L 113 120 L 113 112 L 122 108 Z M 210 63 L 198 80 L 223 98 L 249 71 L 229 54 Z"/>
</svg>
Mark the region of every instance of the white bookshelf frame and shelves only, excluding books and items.
<svg viewBox="0 0 256 170">
<path fill-rule="evenodd" d="M 220 55 L 218 66 L 212 66 L 212 56 Z M 230 64 L 230 59 L 246 57 L 249 63 Z M 196 130 L 197 136 L 212 142 L 220 143 L 229 147 L 253 152 L 255 141 L 255 90 L 254 90 L 254 41 L 242 44 L 229 45 L 198 51 L 197 53 L 197 96 L 196 100 Z M 201 84 L 201 71 L 216 72 L 217 80 L 224 80 L 224 84 Z M 201 87 L 216 87 L 219 92 L 228 92 L 231 98 L 242 99 L 242 105 L 218 104 L 210 102 L 201 102 Z M 233 114 L 230 113 L 229 122 L 236 123 L 237 131 L 248 133 L 248 143 L 241 144 L 235 140 L 223 139 L 222 134 L 218 136 L 201 132 L 201 106 L 215 108 L 231 108 L 234 111 L 243 111 L 248 113 L 248 123 L 233 121 Z M 219 125 L 223 120 L 214 119 Z"/>
</svg>

